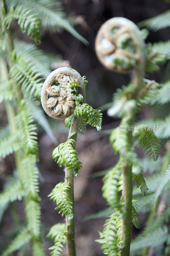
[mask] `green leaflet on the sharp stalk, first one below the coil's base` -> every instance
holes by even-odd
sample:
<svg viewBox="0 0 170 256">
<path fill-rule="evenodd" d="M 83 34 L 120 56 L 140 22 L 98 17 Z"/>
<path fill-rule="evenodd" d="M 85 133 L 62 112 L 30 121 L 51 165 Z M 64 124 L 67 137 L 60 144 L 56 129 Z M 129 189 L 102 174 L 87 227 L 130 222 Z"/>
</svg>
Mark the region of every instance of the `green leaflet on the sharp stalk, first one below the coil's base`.
<svg viewBox="0 0 170 256">
<path fill-rule="evenodd" d="M 82 163 L 78 160 L 77 151 L 75 150 L 76 142 L 73 139 L 68 139 L 61 143 L 53 150 L 52 156 L 57 161 L 59 166 L 65 165 L 68 171 L 73 171 L 75 176 L 78 175 L 78 170 L 82 167 Z"/>
</svg>

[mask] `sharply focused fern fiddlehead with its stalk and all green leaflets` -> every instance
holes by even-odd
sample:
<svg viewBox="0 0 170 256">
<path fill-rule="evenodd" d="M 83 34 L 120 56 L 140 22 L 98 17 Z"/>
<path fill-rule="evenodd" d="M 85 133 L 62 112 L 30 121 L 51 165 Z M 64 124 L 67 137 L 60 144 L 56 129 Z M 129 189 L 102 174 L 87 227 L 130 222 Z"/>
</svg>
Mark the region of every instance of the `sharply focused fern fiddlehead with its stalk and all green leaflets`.
<svg viewBox="0 0 170 256">
<path fill-rule="evenodd" d="M 66 224 L 54 225 L 48 237 L 54 239 L 51 255 L 61 255 L 64 243 L 67 244 L 67 255 L 76 255 L 74 238 L 74 175 L 82 163 L 78 160 L 75 150 L 77 133 L 85 132 L 86 124 L 101 130 L 102 114 L 85 103 L 85 76 L 72 68 L 54 70 L 44 82 L 41 91 L 41 104 L 45 112 L 55 119 L 65 119 L 65 125 L 70 127 L 68 140 L 53 150 L 53 158 L 57 164 L 65 167 L 64 182 L 60 182 L 49 197 L 56 202 L 59 212 L 66 217 Z"/>
</svg>

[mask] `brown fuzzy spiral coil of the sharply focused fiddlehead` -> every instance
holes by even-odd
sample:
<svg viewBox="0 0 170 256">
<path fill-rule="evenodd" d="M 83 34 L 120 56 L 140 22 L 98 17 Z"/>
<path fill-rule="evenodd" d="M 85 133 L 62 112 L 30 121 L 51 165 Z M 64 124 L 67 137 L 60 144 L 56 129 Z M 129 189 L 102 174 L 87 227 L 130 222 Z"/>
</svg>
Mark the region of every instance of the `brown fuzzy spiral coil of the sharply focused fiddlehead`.
<svg viewBox="0 0 170 256">
<path fill-rule="evenodd" d="M 85 100 L 85 86 L 80 74 L 72 68 L 57 68 L 49 74 L 41 91 L 41 104 L 45 112 L 55 119 L 65 119 L 74 112 L 75 100 L 69 82 L 78 82 L 78 93 Z"/>
</svg>

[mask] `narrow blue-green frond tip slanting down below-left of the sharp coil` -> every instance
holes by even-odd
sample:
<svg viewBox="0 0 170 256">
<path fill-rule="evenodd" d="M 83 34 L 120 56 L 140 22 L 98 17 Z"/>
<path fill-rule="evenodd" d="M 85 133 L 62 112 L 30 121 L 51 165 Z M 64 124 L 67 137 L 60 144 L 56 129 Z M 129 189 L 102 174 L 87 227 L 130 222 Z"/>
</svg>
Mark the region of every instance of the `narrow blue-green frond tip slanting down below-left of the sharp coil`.
<svg viewBox="0 0 170 256">
<path fill-rule="evenodd" d="M 47 133 L 50 139 L 56 143 L 57 140 L 55 139 L 54 133 L 51 130 L 51 127 L 48 123 L 47 118 L 44 115 L 44 111 L 39 102 L 35 100 L 26 100 L 26 106 L 31 111 L 31 115 L 33 119 L 36 121 L 37 124 L 41 126 L 41 128 Z"/>
</svg>

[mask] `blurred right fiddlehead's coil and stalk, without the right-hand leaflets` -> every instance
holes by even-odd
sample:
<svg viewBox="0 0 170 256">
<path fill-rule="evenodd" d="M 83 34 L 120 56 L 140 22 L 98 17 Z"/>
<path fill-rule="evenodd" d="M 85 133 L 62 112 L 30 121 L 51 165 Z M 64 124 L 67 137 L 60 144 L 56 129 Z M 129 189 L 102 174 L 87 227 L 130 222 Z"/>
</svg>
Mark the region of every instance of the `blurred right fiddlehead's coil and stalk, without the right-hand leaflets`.
<svg viewBox="0 0 170 256">
<path fill-rule="evenodd" d="M 134 125 L 134 117 L 137 112 L 137 98 L 142 87 L 145 68 L 145 48 L 144 42 L 137 26 L 125 18 L 112 18 L 107 20 L 100 28 L 96 37 L 95 44 L 96 54 L 107 69 L 127 73 L 133 71 L 132 79 L 127 88 L 121 91 L 118 101 L 115 105 L 108 109 L 108 115 L 118 115 L 122 117 L 121 125 L 125 130 L 121 131 L 120 127 L 116 128 L 111 137 L 111 143 L 115 152 L 120 153 L 119 178 L 116 175 L 116 180 L 122 183 L 122 186 L 116 187 L 117 181 L 113 180 L 114 189 L 117 191 L 113 195 L 116 200 L 116 205 L 111 205 L 116 208 L 121 217 L 121 229 L 115 229 L 119 233 L 117 236 L 118 241 L 118 255 L 128 256 L 130 250 L 130 235 L 131 235 L 131 222 L 132 222 L 132 164 L 135 160 L 135 155 L 132 152 L 132 130 L 128 127 Z M 116 166 L 114 168 L 115 172 Z M 122 176 L 121 176 L 122 172 Z M 118 173 L 116 171 L 116 173 Z M 113 177 L 114 179 L 115 175 Z M 107 178 L 105 179 L 107 181 Z M 121 181 L 122 180 L 122 181 Z M 111 184 L 111 182 L 110 182 Z M 105 186 L 106 187 L 106 186 Z M 104 187 L 104 188 L 105 188 Z M 117 208 L 118 192 L 122 190 L 121 204 Z M 105 189 L 104 189 L 105 191 Z M 121 213 L 122 212 L 122 213 Z M 121 231 L 120 231 L 121 230 Z M 105 233 L 103 234 L 105 235 Z M 105 236 L 102 241 L 100 236 L 100 243 L 106 243 L 107 237 Z M 114 238 L 116 239 L 116 238 Z M 115 243 L 115 241 L 113 241 Z M 117 255 L 117 249 L 114 248 L 108 255 Z"/>
</svg>

